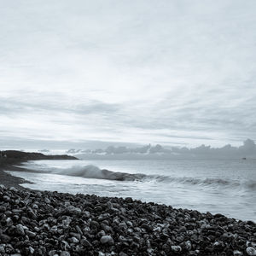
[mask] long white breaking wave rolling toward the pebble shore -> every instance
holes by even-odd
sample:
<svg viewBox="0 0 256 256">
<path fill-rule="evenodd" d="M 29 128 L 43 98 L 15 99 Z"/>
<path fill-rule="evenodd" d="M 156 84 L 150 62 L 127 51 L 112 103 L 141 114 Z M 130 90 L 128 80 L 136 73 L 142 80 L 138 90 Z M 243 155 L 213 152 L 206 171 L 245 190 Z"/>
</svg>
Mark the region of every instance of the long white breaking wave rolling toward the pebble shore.
<svg viewBox="0 0 256 256">
<path fill-rule="evenodd" d="M 154 183 L 172 183 L 172 184 L 188 184 L 198 186 L 212 187 L 228 187 L 228 188 L 243 188 L 256 190 L 256 181 L 237 181 L 223 178 L 199 178 L 199 177 L 171 177 L 164 175 L 147 175 L 143 173 L 127 173 L 113 172 L 107 169 L 100 169 L 97 166 L 72 166 L 70 168 L 55 168 L 46 165 L 26 166 L 32 171 L 37 169 L 39 172 L 53 173 L 74 177 L 99 178 L 116 181 L 138 181 L 138 182 L 154 182 Z"/>
</svg>

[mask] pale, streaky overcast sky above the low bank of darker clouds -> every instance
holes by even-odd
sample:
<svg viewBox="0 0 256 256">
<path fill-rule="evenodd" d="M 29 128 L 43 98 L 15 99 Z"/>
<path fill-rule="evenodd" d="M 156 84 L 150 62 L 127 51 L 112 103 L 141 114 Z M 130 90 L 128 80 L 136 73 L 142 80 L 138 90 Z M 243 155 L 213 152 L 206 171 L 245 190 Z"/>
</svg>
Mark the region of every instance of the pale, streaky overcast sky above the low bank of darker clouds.
<svg viewBox="0 0 256 256">
<path fill-rule="evenodd" d="M 256 140 L 256 1 L 0 0 L 0 148 Z"/>
</svg>

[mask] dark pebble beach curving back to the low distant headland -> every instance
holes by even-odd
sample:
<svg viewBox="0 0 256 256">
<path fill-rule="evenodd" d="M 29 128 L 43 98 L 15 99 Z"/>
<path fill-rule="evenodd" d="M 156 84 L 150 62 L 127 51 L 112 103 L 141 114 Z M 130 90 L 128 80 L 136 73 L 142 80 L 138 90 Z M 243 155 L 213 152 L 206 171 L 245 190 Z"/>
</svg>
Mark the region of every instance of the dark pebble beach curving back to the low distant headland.
<svg viewBox="0 0 256 256">
<path fill-rule="evenodd" d="M 26 160 L 75 159 L 2 151 L 0 255 L 256 255 L 256 224 L 131 198 L 24 189 L 3 170 Z"/>
</svg>

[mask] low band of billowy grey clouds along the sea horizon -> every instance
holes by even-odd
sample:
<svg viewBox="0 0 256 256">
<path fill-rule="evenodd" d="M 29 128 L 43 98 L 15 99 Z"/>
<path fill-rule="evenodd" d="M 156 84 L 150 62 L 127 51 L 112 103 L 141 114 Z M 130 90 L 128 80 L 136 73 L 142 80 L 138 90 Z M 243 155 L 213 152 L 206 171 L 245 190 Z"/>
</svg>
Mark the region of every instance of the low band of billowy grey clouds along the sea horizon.
<svg viewBox="0 0 256 256">
<path fill-rule="evenodd" d="M 47 149 L 42 152 L 50 153 Z M 137 148 L 123 146 L 109 146 L 105 149 L 93 150 L 71 148 L 66 153 L 76 155 L 81 159 L 256 159 L 256 145 L 252 139 L 247 139 L 240 147 L 228 144 L 222 148 L 212 148 L 206 145 L 197 148 L 164 148 L 160 144 L 155 146 L 148 144 Z"/>
</svg>

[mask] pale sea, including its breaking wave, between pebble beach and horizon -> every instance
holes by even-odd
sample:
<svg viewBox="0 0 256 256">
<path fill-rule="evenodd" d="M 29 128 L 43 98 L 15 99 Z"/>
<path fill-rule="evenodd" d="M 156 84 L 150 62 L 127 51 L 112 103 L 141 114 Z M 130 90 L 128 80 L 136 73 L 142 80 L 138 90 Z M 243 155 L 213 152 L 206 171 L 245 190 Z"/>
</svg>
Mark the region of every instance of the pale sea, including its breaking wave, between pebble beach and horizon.
<svg viewBox="0 0 256 256">
<path fill-rule="evenodd" d="M 256 160 L 37 160 L 26 188 L 132 197 L 256 221 Z M 102 171 L 107 169 L 112 172 Z"/>
</svg>

